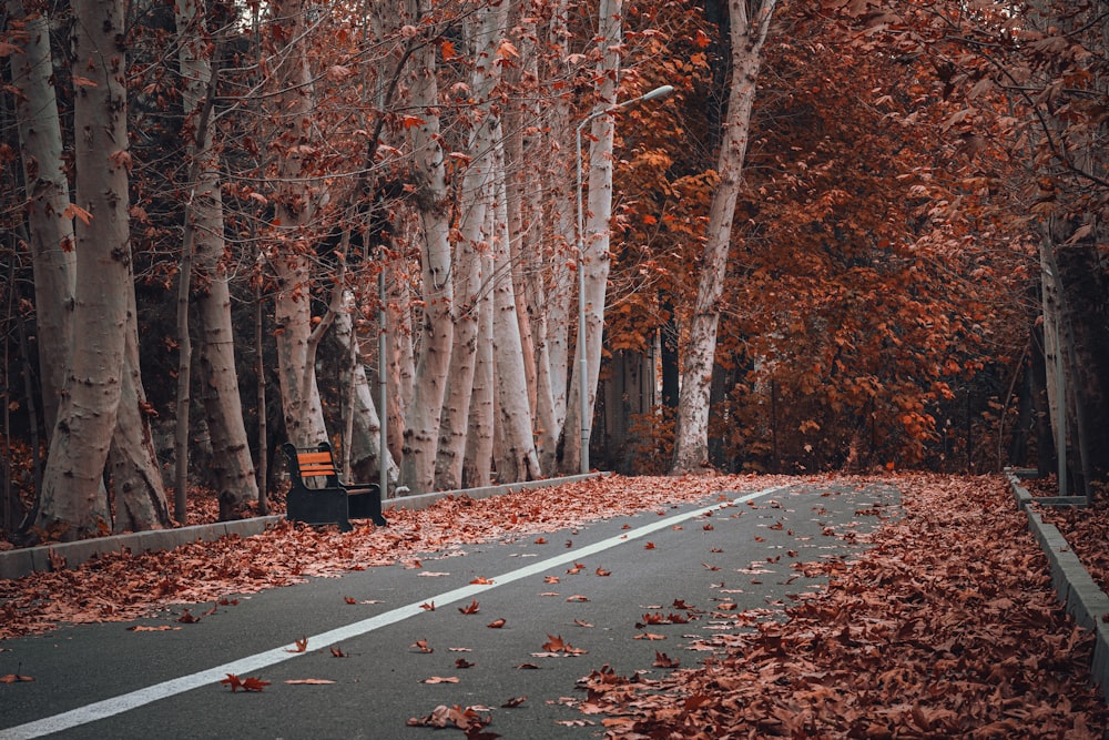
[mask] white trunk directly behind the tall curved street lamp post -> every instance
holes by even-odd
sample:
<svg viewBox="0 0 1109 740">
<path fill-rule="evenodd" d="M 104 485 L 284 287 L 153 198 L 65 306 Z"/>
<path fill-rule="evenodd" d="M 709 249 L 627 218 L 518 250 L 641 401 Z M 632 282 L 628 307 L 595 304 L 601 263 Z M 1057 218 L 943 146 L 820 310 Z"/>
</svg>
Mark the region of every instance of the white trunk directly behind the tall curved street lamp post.
<svg viewBox="0 0 1109 740">
<path fill-rule="evenodd" d="M 598 47 L 601 59 L 597 69 L 597 103 L 589 146 L 589 196 L 586 205 L 583 253 L 579 270 L 584 270 L 586 345 L 574 351 L 573 375 L 563 427 L 562 469 L 581 469 L 581 353 L 586 354 L 586 414 L 592 420 L 597 399 L 597 378 L 601 369 L 601 341 L 604 332 L 604 297 L 609 284 L 609 220 L 612 216 L 612 139 L 613 122 L 602 111 L 617 102 L 620 50 L 622 47 L 622 0 L 601 0 L 598 9 Z"/>
</svg>

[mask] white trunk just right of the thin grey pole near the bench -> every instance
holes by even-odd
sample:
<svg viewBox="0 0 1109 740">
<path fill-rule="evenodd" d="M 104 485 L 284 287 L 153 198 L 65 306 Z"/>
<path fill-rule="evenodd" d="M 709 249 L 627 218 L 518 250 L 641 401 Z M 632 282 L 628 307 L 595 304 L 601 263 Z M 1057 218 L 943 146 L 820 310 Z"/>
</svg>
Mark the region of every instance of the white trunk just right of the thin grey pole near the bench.
<svg viewBox="0 0 1109 740">
<path fill-rule="evenodd" d="M 410 6 L 415 6 L 413 0 Z M 410 11 L 414 21 L 420 12 Z M 450 276 L 450 213 L 448 210 L 446 152 L 439 126 L 439 90 L 436 81 L 436 48 L 417 51 L 414 59 L 411 104 L 423 123 L 413 126 L 417 203 L 423 223 L 423 321 L 416 383 L 405 418 L 401 481 L 414 494 L 435 487 L 435 454 L 439 439 L 447 373 L 450 368 L 451 321 L 455 302 Z"/>
</svg>

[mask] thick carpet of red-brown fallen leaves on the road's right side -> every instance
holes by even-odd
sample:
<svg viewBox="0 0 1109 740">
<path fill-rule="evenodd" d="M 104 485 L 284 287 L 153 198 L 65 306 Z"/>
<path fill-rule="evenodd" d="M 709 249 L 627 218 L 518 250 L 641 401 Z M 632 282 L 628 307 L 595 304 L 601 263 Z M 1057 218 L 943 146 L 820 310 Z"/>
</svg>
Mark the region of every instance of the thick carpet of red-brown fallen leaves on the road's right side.
<svg viewBox="0 0 1109 740">
<path fill-rule="evenodd" d="M 1106 737 L 1092 637 L 1060 609 L 1005 481 L 898 484 L 904 517 L 787 624 L 721 636 L 662 681 L 594 671 L 583 709 L 624 740 Z"/>
</svg>

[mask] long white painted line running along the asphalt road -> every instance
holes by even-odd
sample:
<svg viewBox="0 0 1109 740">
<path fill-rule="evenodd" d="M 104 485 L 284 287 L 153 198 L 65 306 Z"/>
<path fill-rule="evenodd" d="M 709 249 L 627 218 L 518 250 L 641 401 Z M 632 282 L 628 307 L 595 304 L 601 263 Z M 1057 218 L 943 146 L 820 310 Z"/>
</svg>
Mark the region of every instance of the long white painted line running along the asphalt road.
<svg viewBox="0 0 1109 740">
<path fill-rule="evenodd" d="M 498 586 L 511 584 L 512 581 L 527 578 L 528 576 L 547 572 L 551 568 L 566 565 L 567 562 L 573 562 L 579 558 L 583 559 L 590 555 L 602 553 L 617 547 L 618 545 L 623 545 L 630 540 L 659 531 L 660 529 L 668 529 L 674 526 L 675 523 L 703 516 L 709 511 L 714 511 L 724 506 L 754 500 L 762 496 L 767 496 L 782 490 L 786 487 L 787 486 L 773 486 L 771 488 L 757 490 L 753 494 L 746 494 L 737 498 L 730 499 L 726 504 L 718 503 L 693 511 L 663 517 L 649 525 L 637 527 L 635 529 L 629 529 L 615 537 L 609 537 L 608 539 L 602 539 L 601 541 L 593 543 L 592 545 L 586 545 L 584 547 L 568 550 L 557 557 L 532 562 L 523 568 L 518 568 L 501 576 L 497 576 L 492 579 L 492 584 L 470 584 L 468 586 L 462 586 L 461 588 L 445 591 L 438 596 L 424 598 L 420 601 L 414 601 L 409 605 L 377 615 L 376 617 L 369 617 L 368 619 L 363 619 L 360 621 L 346 625 L 345 627 L 338 627 L 326 632 L 321 632 L 319 635 L 313 635 L 308 638 L 308 642 L 312 645 L 335 645 L 337 642 L 350 640 L 366 635 L 367 632 L 372 632 L 375 629 L 395 625 L 398 621 L 425 614 L 426 610 L 423 609 L 420 605 L 426 604 L 429 600 L 435 601 L 437 606 L 447 606 L 448 604 L 454 604 L 455 601 L 472 598 L 478 594 L 497 588 Z M 111 699 L 104 699 L 103 701 L 96 701 L 84 707 L 78 707 L 77 709 L 71 709 L 70 711 L 62 712 L 61 714 L 45 717 L 18 727 L 10 727 L 8 729 L 0 730 L 0 740 L 29 740 L 30 738 L 41 738 L 42 736 L 50 734 L 51 732 L 61 732 L 62 730 L 68 730 L 81 724 L 95 722 L 99 719 L 121 714 L 131 709 L 138 709 L 139 707 L 153 703 L 161 699 L 167 699 L 179 693 L 197 689 L 202 686 L 215 683 L 216 681 L 226 678 L 227 673 L 234 673 L 236 676 L 245 675 L 263 668 L 268 668 L 269 666 L 275 666 L 285 660 L 292 660 L 298 656 L 309 655 L 305 651 L 296 652 L 296 645 L 292 643 L 282 646 L 279 648 L 266 650 L 265 652 L 258 652 L 222 666 L 208 668 L 207 670 L 202 670 L 196 673 L 155 683 L 154 686 L 139 689 L 138 691 L 131 691 L 130 693 L 124 693 Z"/>
</svg>

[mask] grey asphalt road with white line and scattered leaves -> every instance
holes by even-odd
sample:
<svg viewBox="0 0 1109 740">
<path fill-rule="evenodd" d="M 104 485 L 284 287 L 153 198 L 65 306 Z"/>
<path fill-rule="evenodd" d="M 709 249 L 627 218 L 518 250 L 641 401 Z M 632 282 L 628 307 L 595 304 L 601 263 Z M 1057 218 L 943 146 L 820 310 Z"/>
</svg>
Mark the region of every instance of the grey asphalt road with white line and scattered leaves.
<svg viewBox="0 0 1109 740">
<path fill-rule="evenodd" d="M 854 535 L 898 503 L 877 484 L 726 496 L 317 578 L 195 624 L 174 607 L 0 642 L 0 675 L 34 679 L 0 685 L 0 740 L 460 738 L 407 724 L 456 704 L 482 708 L 502 738 L 600 737 L 600 718 L 571 706 L 579 678 L 602 666 L 658 677 L 657 651 L 698 665 L 698 640 L 750 629 L 736 618 L 749 610 L 782 618 L 824 582 L 798 565 L 852 557 Z M 647 624 L 671 614 L 689 621 Z M 268 686 L 232 692 L 228 673 Z"/>
</svg>

